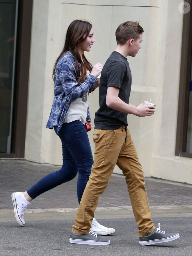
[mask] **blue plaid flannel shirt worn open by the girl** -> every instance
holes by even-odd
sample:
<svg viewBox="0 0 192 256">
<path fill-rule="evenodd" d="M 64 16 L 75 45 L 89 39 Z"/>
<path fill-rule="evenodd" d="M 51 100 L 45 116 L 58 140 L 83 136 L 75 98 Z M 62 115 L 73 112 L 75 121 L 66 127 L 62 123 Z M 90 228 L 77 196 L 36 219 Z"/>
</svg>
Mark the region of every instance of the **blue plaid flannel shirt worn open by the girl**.
<svg viewBox="0 0 192 256">
<path fill-rule="evenodd" d="M 71 52 L 66 52 L 59 59 L 54 74 L 54 100 L 51 108 L 49 120 L 46 128 L 56 127 L 59 133 L 70 103 L 77 98 L 81 98 L 83 92 L 88 91 L 97 78 L 88 75 L 83 83 L 78 84 L 80 71 L 76 73 L 75 59 Z M 91 121 L 89 107 L 87 110 L 87 120 Z"/>
</svg>

